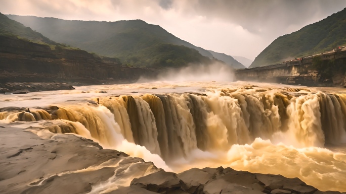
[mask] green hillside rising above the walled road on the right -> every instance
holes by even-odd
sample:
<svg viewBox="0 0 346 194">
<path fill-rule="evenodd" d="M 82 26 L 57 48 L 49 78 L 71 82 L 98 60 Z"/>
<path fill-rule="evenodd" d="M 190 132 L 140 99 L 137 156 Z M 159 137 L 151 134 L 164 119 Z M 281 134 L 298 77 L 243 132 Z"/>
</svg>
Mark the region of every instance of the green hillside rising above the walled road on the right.
<svg viewBox="0 0 346 194">
<path fill-rule="evenodd" d="M 277 38 L 254 59 L 250 68 L 331 50 L 346 44 L 345 32 L 346 8 L 319 22 Z"/>
</svg>

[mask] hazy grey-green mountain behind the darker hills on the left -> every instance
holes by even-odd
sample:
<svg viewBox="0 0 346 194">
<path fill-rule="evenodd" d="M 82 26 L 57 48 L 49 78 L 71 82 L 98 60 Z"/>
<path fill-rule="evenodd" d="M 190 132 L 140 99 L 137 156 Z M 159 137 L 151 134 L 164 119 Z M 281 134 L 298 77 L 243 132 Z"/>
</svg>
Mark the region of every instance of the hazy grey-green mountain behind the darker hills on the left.
<svg viewBox="0 0 346 194">
<path fill-rule="evenodd" d="M 148 24 L 142 20 L 98 22 L 34 16 L 8 15 L 8 17 L 30 26 L 57 42 L 64 42 L 106 56 L 136 51 L 157 43 L 170 43 L 194 48 L 202 55 L 212 57 L 208 51 L 179 39 L 160 26 Z"/>
</svg>

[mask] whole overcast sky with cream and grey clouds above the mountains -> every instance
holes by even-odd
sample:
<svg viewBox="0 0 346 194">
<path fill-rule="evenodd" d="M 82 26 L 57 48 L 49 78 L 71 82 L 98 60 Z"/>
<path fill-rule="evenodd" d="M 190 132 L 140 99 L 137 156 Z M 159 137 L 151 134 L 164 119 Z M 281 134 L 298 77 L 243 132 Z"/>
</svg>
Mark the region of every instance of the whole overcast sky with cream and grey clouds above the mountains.
<svg viewBox="0 0 346 194">
<path fill-rule="evenodd" d="M 3 14 L 141 19 L 196 46 L 252 60 L 277 37 L 345 7 L 346 0 L 0 0 Z"/>
</svg>

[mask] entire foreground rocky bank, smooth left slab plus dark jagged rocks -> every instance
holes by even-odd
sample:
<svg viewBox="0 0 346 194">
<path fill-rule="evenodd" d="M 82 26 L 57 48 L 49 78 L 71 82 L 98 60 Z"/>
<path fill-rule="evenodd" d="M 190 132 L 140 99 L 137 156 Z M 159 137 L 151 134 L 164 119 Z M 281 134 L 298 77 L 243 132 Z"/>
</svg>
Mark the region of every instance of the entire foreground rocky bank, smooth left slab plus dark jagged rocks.
<svg viewBox="0 0 346 194">
<path fill-rule="evenodd" d="M 1 193 L 340 193 L 298 178 L 223 167 L 165 172 L 92 140 L 49 133 L 35 122 L 1 124 L 0 142 Z"/>
</svg>

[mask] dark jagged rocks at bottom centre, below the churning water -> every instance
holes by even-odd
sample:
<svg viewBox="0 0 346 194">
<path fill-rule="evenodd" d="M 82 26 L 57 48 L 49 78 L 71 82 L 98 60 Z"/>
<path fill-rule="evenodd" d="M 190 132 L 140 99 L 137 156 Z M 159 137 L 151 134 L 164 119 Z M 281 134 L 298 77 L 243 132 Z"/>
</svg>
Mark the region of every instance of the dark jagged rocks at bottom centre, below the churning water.
<svg viewBox="0 0 346 194">
<path fill-rule="evenodd" d="M 298 178 L 236 171 L 232 168 L 192 168 L 180 174 L 160 170 L 135 178 L 132 186 L 157 193 L 340 193 L 319 191 Z"/>
</svg>

